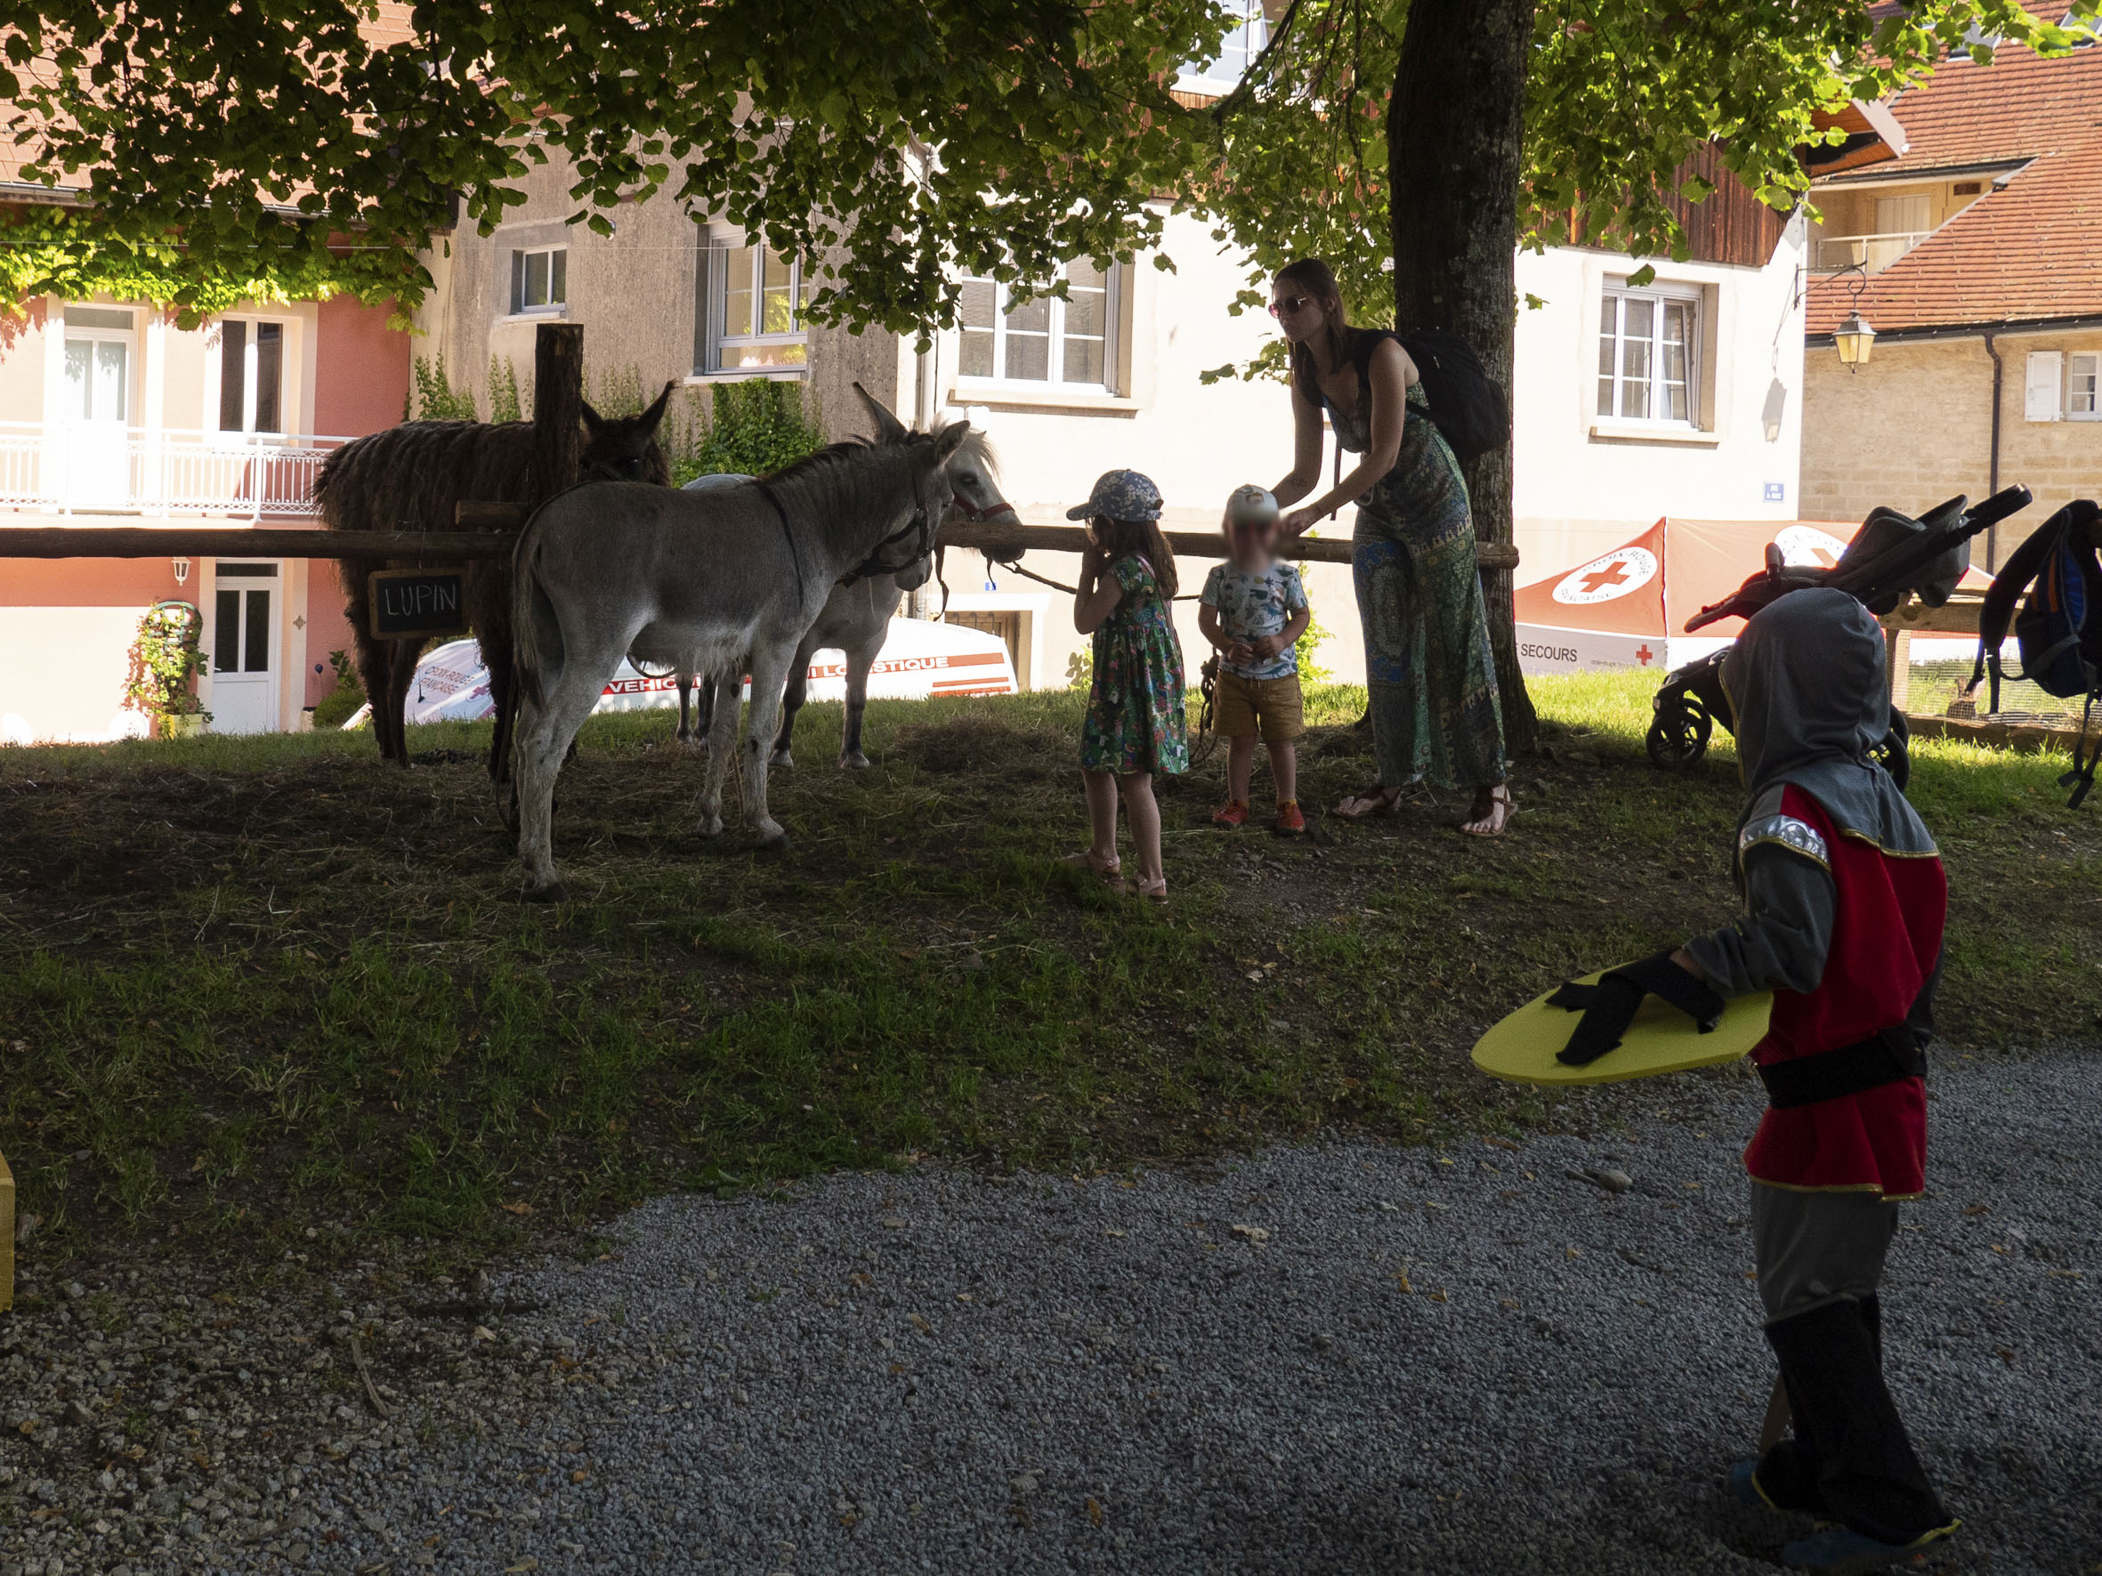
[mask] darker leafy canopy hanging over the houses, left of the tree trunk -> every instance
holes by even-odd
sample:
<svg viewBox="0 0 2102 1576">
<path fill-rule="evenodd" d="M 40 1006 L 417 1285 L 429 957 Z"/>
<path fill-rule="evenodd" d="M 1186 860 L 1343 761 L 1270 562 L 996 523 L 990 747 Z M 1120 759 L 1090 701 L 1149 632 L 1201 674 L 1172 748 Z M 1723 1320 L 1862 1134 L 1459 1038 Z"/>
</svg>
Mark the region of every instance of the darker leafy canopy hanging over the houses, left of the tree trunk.
<svg viewBox="0 0 2102 1576">
<path fill-rule="evenodd" d="M 488 233 L 559 158 L 572 223 L 660 189 L 818 258 L 811 311 L 952 322 L 959 271 L 1028 284 L 1154 244 L 1177 63 L 1213 0 L 38 0 L 0 111 L 0 296 L 179 311 L 353 292 L 412 311 L 416 252 Z M 851 256 L 851 277 L 847 275 Z"/>
</svg>

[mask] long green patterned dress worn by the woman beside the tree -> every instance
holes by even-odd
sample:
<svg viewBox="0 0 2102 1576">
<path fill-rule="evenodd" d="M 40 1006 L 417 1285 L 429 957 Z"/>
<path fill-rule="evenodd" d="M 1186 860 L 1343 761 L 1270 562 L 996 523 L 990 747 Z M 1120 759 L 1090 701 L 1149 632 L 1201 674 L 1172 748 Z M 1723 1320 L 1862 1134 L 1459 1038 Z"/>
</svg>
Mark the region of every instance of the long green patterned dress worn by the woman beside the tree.
<svg viewBox="0 0 2102 1576">
<path fill-rule="evenodd" d="M 1371 448 L 1371 357 L 1358 364 L 1358 412 L 1328 403 L 1337 441 Z M 1431 424 L 1423 385 L 1408 389 L 1402 452 L 1358 500 L 1352 578 L 1364 624 L 1364 687 L 1383 788 L 1503 782 L 1503 708 L 1488 611 L 1474 557 L 1467 483 Z"/>
</svg>

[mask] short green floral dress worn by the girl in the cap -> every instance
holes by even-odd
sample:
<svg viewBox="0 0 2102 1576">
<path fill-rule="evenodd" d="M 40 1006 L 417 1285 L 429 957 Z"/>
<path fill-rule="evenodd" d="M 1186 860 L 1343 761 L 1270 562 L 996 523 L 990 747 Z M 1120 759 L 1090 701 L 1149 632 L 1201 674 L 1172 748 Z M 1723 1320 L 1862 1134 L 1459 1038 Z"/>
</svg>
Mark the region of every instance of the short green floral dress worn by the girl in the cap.
<svg viewBox="0 0 2102 1576">
<path fill-rule="evenodd" d="M 1080 723 L 1080 765 L 1118 775 L 1188 771 L 1181 641 L 1154 565 L 1127 553 L 1110 574 L 1125 599 L 1095 630 L 1095 683 Z"/>
</svg>

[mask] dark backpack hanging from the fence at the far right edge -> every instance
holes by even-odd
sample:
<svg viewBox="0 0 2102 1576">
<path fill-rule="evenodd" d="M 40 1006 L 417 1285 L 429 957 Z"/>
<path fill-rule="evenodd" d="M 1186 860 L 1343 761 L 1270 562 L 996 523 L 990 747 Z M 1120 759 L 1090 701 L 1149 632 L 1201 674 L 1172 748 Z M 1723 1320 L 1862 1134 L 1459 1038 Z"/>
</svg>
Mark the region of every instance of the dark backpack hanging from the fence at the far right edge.
<svg viewBox="0 0 2102 1576">
<path fill-rule="evenodd" d="M 2073 744 L 2073 771 L 2058 780 L 2060 788 L 2070 788 L 2068 807 L 2087 799 L 2096 782 L 2096 765 L 2102 763 L 2102 740 L 2091 754 L 2083 756 L 2085 733 L 2094 723 L 2096 700 L 2102 698 L 2102 559 L 2096 553 L 2096 521 L 2102 506 L 2089 498 L 2079 498 L 2052 515 L 2037 532 L 2022 542 L 2007 559 L 2007 567 L 1993 578 L 1993 588 L 1984 595 L 1978 614 L 1978 662 L 1972 666 L 1970 689 L 1993 675 L 1991 706 L 1999 710 L 2001 662 L 1999 647 L 2007 639 L 2007 624 L 2014 624 L 2014 641 L 2022 654 L 2022 670 L 2012 675 L 2026 679 L 2047 696 L 2083 696 L 2087 708 L 2081 717 L 2081 738 Z M 2022 593 L 2028 593 L 2022 597 Z M 2014 611 L 2022 597 L 2022 611 Z"/>
</svg>

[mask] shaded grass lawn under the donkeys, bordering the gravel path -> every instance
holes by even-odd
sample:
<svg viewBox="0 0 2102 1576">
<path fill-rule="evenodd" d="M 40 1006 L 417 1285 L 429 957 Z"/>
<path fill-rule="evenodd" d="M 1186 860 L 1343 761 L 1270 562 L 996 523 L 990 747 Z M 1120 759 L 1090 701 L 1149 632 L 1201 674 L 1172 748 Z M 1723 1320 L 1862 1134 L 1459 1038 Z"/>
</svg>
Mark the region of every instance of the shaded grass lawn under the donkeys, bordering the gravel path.
<svg viewBox="0 0 2102 1576">
<path fill-rule="evenodd" d="M 877 702 L 866 773 L 811 706 L 774 777 L 786 857 L 694 832 L 666 712 L 595 719 L 559 908 L 517 897 L 486 725 L 414 729 L 412 771 L 355 733 L 0 750 L 0 1152 L 46 1265 L 168 1238 L 322 1265 L 818 1166 L 1558 1120 L 1476 1076 L 1474 1038 L 1734 906 L 1736 761 L 1717 738 L 1654 771 L 1652 687 L 1541 683 L 1549 750 L 1497 843 L 1450 799 L 1221 836 L 1221 748 L 1165 790 L 1165 912 L 1055 864 L 1085 841 L 1072 693 Z M 1310 700 L 1303 799 L 1333 805 L 1371 777 L 1335 727 L 1362 693 Z M 1915 746 L 1959 1044 L 2096 1028 L 2102 811 L 2064 809 L 2062 769 Z"/>
</svg>

